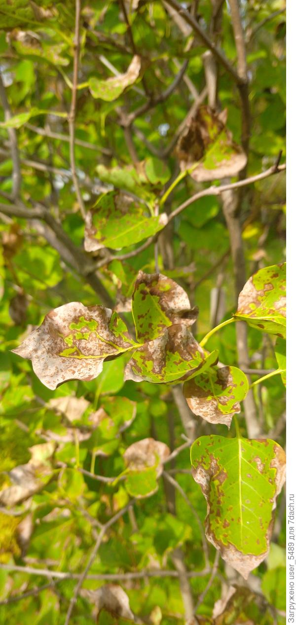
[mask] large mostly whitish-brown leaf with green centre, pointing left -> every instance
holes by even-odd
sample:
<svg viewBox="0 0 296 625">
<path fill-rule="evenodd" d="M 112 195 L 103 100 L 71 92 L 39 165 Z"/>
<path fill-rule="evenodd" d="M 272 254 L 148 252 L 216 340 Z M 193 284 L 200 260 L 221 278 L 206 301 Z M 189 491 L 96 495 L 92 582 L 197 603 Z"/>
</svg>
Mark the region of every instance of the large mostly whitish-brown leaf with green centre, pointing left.
<svg viewBox="0 0 296 625">
<path fill-rule="evenodd" d="M 49 312 L 41 326 L 12 351 L 30 358 L 41 382 L 56 389 L 67 380 L 94 379 L 101 373 L 105 358 L 134 346 L 116 312 L 70 302 Z"/>
</svg>

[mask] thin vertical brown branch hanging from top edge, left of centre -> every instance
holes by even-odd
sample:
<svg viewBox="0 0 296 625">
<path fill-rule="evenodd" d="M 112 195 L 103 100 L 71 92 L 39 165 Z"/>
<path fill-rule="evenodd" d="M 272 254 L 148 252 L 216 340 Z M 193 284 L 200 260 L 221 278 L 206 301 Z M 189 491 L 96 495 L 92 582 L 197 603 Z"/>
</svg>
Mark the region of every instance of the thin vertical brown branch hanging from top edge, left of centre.
<svg viewBox="0 0 296 625">
<path fill-rule="evenodd" d="M 75 117 L 76 117 L 78 66 L 79 66 L 79 51 L 80 51 L 80 37 L 79 37 L 79 21 L 80 21 L 80 13 L 81 13 L 80 0 L 76 0 L 75 6 L 76 6 L 76 13 L 75 13 L 75 34 L 74 34 L 74 46 L 73 46 L 74 47 L 73 83 L 72 83 L 73 86 L 72 86 L 71 107 L 70 107 L 70 111 L 68 115 L 68 124 L 69 124 L 70 162 L 71 162 L 72 179 L 73 179 L 74 189 L 76 192 L 77 202 L 79 204 L 81 215 L 83 219 L 85 219 L 86 207 L 84 206 L 84 201 L 83 201 L 81 190 L 79 187 L 79 182 L 78 182 L 77 172 L 76 172 L 76 161 L 75 161 Z"/>
</svg>

